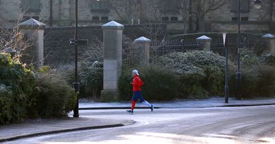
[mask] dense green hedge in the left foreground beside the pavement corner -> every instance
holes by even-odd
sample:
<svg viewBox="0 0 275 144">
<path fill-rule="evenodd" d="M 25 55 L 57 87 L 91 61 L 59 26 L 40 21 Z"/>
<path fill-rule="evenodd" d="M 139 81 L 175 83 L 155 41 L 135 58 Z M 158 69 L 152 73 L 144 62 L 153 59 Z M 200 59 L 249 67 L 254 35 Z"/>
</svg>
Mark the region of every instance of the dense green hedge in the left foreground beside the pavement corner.
<svg viewBox="0 0 275 144">
<path fill-rule="evenodd" d="M 47 72 L 45 72 L 47 71 Z M 35 117 L 61 117 L 74 109 L 76 93 L 49 67 L 25 68 L 0 53 L 0 125 Z"/>
</svg>

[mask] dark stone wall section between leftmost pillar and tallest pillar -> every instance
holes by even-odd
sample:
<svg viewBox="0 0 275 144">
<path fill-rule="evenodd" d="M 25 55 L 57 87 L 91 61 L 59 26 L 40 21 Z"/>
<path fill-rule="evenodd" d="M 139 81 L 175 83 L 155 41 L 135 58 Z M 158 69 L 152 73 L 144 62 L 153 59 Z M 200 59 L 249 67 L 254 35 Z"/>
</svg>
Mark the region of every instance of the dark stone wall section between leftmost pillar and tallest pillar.
<svg viewBox="0 0 275 144">
<path fill-rule="evenodd" d="M 74 38 L 74 27 L 48 27 L 44 34 L 45 64 L 56 65 L 74 62 L 75 48 L 69 45 L 69 39 Z M 96 38 L 102 38 L 100 27 L 79 27 L 78 38 L 89 40 L 89 46 Z M 87 46 L 80 46 L 80 56 L 87 50 Z"/>
</svg>

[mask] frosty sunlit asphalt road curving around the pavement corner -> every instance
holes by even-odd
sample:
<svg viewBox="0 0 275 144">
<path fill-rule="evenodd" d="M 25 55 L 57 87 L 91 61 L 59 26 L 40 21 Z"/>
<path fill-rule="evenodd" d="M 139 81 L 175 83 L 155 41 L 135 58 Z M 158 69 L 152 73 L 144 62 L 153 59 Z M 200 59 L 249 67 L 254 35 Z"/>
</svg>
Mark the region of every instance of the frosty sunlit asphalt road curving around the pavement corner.
<svg viewBox="0 0 275 144">
<path fill-rule="evenodd" d="M 37 136 L 7 143 L 275 143 L 275 106 L 135 110 L 81 110 L 80 116 L 133 119 L 133 125 Z"/>
</svg>

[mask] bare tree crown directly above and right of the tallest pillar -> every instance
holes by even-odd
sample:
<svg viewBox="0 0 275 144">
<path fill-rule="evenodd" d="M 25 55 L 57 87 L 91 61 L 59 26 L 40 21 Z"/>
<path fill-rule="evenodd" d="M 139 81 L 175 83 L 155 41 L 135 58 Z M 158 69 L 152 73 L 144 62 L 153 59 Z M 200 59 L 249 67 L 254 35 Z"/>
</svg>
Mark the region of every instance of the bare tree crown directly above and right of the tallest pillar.
<svg viewBox="0 0 275 144">
<path fill-rule="evenodd" d="M 110 7 L 122 21 L 131 23 L 139 3 L 139 0 L 111 0 Z"/>
</svg>

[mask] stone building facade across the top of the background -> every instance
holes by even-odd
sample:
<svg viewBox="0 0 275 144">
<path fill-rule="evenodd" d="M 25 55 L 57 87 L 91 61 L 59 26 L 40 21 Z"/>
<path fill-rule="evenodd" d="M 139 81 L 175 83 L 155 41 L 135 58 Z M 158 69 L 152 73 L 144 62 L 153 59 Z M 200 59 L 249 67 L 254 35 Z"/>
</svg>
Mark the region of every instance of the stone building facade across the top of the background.
<svg viewBox="0 0 275 144">
<path fill-rule="evenodd" d="M 0 27 L 14 27 L 22 8 L 19 7 L 20 0 L 0 0 Z M 29 17 L 39 18 L 39 21 L 49 24 L 50 22 L 50 0 L 37 0 L 41 2 L 41 10 L 38 12 L 27 11 L 24 16 L 25 19 Z M 52 0 L 52 16 L 53 16 L 53 26 L 74 26 L 75 17 L 75 1 L 74 0 Z M 112 10 L 109 12 L 95 12 L 91 11 L 92 3 L 96 0 L 81 0 L 78 2 L 78 19 L 79 25 L 102 25 L 107 21 L 115 20 L 120 22 L 120 17 L 118 14 Z M 137 10 L 133 14 L 134 23 L 137 24 L 138 19 L 140 22 L 146 20 L 154 19 L 154 13 L 152 10 L 151 0 L 140 0 L 139 5 L 137 5 Z M 273 2 L 273 5 L 271 3 Z M 273 12 L 268 12 L 273 6 Z M 263 1 L 262 8 L 256 10 L 252 1 L 250 1 L 250 12 L 242 12 L 241 17 L 248 18 L 248 21 L 243 21 L 242 30 L 243 31 L 268 31 L 275 30 L 275 1 L 265 0 Z M 236 31 L 236 21 L 232 21 L 233 17 L 237 17 L 237 12 L 232 12 L 232 1 L 226 3 L 218 10 L 209 12 L 206 14 L 206 27 L 207 32 L 234 32 Z M 268 13 L 267 13 L 268 12 Z M 126 13 L 125 13 L 126 14 Z M 123 15 L 123 14 L 122 14 Z M 263 15 L 265 15 L 263 17 Z M 94 21 L 93 16 L 98 16 L 99 21 Z M 108 16 L 108 19 L 102 21 L 102 16 Z M 168 12 L 164 14 L 163 12 L 157 12 L 159 19 L 167 19 L 165 23 L 168 24 L 168 29 L 181 30 L 184 28 L 183 17 L 178 12 Z M 177 17 L 177 21 L 171 21 L 172 18 Z M 192 19 L 192 25 L 194 29 L 195 17 Z M 131 23 L 131 22 L 128 22 Z M 190 23 L 189 21 L 187 24 Z"/>
</svg>

